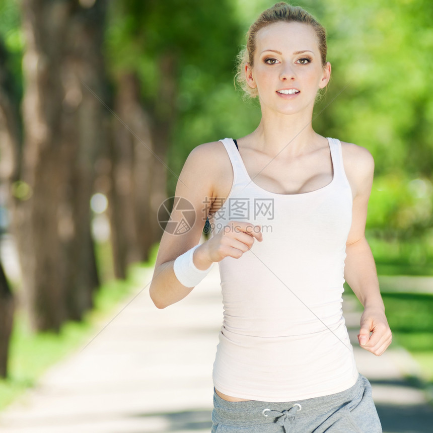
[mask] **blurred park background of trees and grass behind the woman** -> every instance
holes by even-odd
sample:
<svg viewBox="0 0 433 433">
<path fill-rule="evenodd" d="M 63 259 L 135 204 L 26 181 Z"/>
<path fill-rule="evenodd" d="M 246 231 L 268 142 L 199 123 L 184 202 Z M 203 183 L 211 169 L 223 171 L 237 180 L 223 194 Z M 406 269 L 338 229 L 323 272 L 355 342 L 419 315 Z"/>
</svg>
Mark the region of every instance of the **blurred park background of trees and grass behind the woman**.
<svg viewBox="0 0 433 433">
<path fill-rule="evenodd" d="M 235 57 L 274 3 L 0 0 L 0 409 L 152 267 L 189 152 L 257 126 Z M 367 236 L 393 344 L 431 386 L 433 3 L 299 5 L 332 64 L 313 126 L 375 158 Z"/>
</svg>

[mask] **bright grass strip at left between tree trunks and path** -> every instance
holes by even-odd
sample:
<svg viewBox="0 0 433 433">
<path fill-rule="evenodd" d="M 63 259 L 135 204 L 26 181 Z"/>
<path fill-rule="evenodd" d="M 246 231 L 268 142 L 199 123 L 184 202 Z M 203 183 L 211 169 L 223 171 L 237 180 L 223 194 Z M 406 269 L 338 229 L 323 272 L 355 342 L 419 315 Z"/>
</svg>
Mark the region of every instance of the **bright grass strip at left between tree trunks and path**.
<svg viewBox="0 0 433 433">
<path fill-rule="evenodd" d="M 95 308 L 82 322 L 65 323 L 58 334 L 30 331 L 23 312 L 16 312 L 10 342 L 9 377 L 0 379 L 0 410 L 4 409 L 27 388 L 34 386 L 48 367 L 85 344 L 97 329 L 98 323 L 109 317 L 120 301 L 151 277 L 149 268 L 155 261 L 153 249 L 147 264 L 133 265 L 126 280 L 111 280 L 95 294 Z"/>
</svg>

